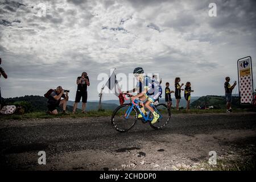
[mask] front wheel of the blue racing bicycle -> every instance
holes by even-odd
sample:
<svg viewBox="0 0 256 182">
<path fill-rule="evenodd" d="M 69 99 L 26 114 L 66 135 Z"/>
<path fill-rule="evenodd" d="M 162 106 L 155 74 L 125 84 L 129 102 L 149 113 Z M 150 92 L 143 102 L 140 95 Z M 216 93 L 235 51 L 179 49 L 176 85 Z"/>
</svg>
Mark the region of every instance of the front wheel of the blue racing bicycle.
<svg viewBox="0 0 256 182">
<path fill-rule="evenodd" d="M 129 109 L 131 109 L 130 114 L 127 113 Z M 128 117 L 126 117 L 126 114 L 129 114 Z M 131 104 L 124 104 L 114 110 L 111 123 L 115 130 L 126 132 L 135 125 L 137 118 L 138 114 L 134 107 L 131 108 Z"/>
</svg>

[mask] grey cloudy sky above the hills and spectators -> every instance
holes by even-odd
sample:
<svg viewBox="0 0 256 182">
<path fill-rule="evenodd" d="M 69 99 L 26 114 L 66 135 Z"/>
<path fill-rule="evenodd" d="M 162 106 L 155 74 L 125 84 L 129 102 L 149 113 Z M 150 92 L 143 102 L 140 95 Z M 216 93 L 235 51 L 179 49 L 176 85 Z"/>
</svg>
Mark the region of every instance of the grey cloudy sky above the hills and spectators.
<svg viewBox="0 0 256 182">
<path fill-rule="evenodd" d="M 216 17 L 208 15 L 211 2 Z M 177 76 L 191 81 L 193 96 L 222 95 L 224 78 L 237 80 L 238 59 L 250 55 L 256 72 L 255 6 L 249 0 L 0 0 L 1 66 L 9 76 L 1 77 L 2 97 L 42 96 L 61 85 L 74 100 L 76 78 L 86 71 L 89 100 L 98 100 L 99 73 L 135 67 L 159 73 L 171 88 Z"/>
</svg>

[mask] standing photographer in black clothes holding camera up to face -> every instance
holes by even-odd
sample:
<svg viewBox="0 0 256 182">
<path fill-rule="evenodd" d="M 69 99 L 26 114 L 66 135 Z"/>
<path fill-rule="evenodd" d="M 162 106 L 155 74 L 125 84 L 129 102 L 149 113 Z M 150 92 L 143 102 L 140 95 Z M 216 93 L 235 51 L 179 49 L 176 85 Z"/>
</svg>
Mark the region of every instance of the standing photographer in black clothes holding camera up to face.
<svg viewBox="0 0 256 182">
<path fill-rule="evenodd" d="M 76 100 L 73 106 L 73 113 L 76 113 L 77 104 L 82 98 L 82 113 L 85 113 L 86 102 L 87 102 L 87 86 L 90 86 L 89 77 L 86 72 L 82 72 L 80 77 L 77 77 L 76 80 L 77 91 L 76 91 Z"/>
</svg>

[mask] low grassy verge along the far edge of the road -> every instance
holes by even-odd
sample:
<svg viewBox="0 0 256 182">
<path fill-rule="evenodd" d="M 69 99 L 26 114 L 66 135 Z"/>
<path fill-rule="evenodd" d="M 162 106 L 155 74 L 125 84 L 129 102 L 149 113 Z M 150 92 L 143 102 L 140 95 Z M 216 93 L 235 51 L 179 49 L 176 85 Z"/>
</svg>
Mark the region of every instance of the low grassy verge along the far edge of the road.
<svg viewBox="0 0 256 182">
<path fill-rule="evenodd" d="M 234 109 L 234 113 L 240 113 L 243 111 L 250 111 L 247 109 Z M 33 112 L 22 115 L 1 115 L 1 119 L 35 119 L 35 118 L 84 118 L 84 117 L 110 117 L 112 115 L 112 110 L 90 110 L 87 111 L 86 114 L 82 114 L 81 112 L 77 112 L 77 114 L 58 114 L 58 115 L 49 115 L 45 112 Z M 225 113 L 225 110 L 222 109 L 212 109 L 212 110 L 200 110 L 200 109 L 191 109 L 187 112 L 185 109 L 177 111 L 175 109 L 171 110 L 172 114 L 204 114 L 204 113 Z"/>
</svg>

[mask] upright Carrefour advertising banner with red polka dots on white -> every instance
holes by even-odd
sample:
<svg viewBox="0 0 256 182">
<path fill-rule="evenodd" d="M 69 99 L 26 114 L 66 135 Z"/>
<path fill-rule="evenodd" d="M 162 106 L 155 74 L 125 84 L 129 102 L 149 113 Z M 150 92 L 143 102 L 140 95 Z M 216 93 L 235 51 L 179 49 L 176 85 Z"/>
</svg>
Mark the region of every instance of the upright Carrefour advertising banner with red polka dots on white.
<svg viewBox="0 0 256 182">
<path fill-rule="evenodd" d="M 251 104 L 251 101 L 253 101 L 253 72 L 251 57 L 248 56 L 238 60 L 237 66 L 240 103 L 249 105 Z"/>
</svg>

